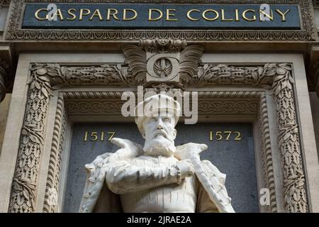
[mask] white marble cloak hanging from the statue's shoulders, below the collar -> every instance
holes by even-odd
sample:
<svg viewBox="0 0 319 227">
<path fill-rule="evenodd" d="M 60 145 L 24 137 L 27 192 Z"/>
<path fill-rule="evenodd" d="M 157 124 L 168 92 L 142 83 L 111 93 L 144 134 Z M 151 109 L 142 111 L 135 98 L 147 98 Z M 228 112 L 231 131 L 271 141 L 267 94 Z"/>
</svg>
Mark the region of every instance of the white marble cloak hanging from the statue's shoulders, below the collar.
<svg viewBox="0 0 319 227">
<path fill-rule="evenodd" d="M 86 184 L 79 212 L 123 212 L 120 195 L 114 194 L 110 189 L 108 189 L 105 179 L 113 162 L 122 159 L 128 160 L 137 156 L 138 155 L 136 153 L 135 155 L 123 155 L 121 154 L 121 150 L 118 150 L 116 153 L 105 153 L 100 155 L 96 157 L 93 162 L 85 165 L 87 172 Z M 208 179 L 206 184 L 211 184 L 212 188 L 218 189 L 216 194 L 218 194 L 219 199 L 218 201 L 213 201 L 213 203 L 216 204 L 220 212 L 232 212 L 233 207 L 230 205 L 230 197 L 228 197 L 227 190 L 225 188 L 226 175 L 221 173 L 217 167 L 211 164 L 208 160 L 200 161 L 200 165 Z M 201 184 L 200 187 L 203 187 L 203 185 Z M 208 190 L 206 190 L 206 192 L 208 192 Z M 220 209 L 220 207 L 222 207 L 222 209 Z"/>
</svg>

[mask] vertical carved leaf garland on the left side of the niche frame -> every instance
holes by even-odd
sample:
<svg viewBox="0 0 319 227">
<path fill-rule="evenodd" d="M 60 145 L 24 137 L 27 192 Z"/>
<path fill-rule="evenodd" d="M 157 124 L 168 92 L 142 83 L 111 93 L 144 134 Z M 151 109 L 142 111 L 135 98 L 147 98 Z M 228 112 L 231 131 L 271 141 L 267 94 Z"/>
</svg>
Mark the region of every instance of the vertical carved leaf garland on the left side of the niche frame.
<svg viewBox="0 0 319 227">
<path fill-rule="evenodd" d="M 9 212 L 35 211 L 35 191 L 44 144 L 43 135 L 45 134 L 45 119 L 51 95 L 51 85 L 48 67 L 35 65 L 30 70 L 28 100 L 21 128 Z"/>
</svg>

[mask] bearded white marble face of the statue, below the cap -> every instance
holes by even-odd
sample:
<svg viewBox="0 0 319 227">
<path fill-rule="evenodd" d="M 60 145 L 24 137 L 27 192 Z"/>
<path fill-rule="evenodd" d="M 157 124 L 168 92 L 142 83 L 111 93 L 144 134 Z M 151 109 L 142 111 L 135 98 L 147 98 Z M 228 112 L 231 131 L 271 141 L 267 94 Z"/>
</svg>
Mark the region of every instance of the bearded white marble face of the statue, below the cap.
<svg viewBox="0 0 319 227">
<path fill-rule="evenodd" d="M 150 116 L 142 122 L 142 136 L 145 138 L 145 152 L 150 155 L 172 155 L 175 151 L 174 139 L 177 131 L 172 114 L 162 112 Z"/>
</svg>

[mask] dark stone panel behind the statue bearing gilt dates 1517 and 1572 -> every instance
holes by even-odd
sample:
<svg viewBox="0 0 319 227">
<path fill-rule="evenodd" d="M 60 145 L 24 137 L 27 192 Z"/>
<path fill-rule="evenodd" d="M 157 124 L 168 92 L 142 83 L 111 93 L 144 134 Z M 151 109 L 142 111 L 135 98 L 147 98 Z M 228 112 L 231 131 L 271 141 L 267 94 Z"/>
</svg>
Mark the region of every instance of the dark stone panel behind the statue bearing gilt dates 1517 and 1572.
<svg viewBox="0 0 319 227">
<path fill-rule="evenodd" d="M 108 141 L 113 132 L 115 132 L 114 137 L 143 144 L 144 140 L 133 123 L 74 124 L 64 212 L 77 212 L 79 209 L 86 179 L 84 165 L 92 162 L 98 155 L 118 150 L 116 145 Z M 179 124 L 176 145 L 189 142 L 208 145 L 208 150 L 201 153 L 201 160 L 210 160 L 220 172 L 227 175 L 225 185 L 235 211 L 258 212 L 252 125 L 250 123 Z"/>
</svg>

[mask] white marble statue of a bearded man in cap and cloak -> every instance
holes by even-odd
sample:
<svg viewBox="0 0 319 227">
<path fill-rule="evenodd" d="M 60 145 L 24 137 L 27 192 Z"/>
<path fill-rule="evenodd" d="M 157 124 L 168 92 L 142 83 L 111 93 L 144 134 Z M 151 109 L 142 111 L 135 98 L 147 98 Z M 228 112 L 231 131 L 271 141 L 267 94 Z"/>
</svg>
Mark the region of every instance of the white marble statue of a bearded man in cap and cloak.
<svg viewBox="0 0 319 227">
<path fill-rule="evenodd" d="M 113 138 L 120 149 L 86 165 L 79 212 L 235 212 L 225 175 L 211 162 L 200 160 L 207 145 L 174 145 L 179 103 L 157 94 L 136 109 L 140 106 L 150 107 L 148 114 L 135 117 L 144 147 Z"/>
</svg>

